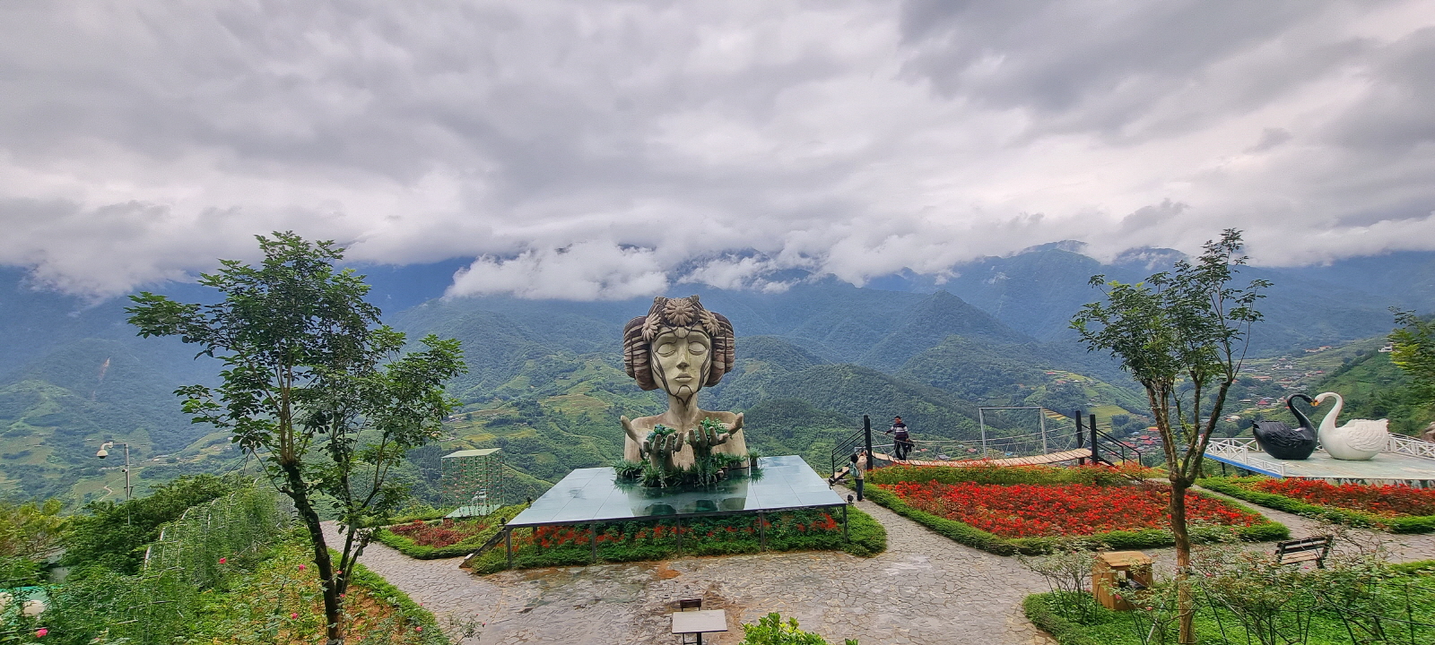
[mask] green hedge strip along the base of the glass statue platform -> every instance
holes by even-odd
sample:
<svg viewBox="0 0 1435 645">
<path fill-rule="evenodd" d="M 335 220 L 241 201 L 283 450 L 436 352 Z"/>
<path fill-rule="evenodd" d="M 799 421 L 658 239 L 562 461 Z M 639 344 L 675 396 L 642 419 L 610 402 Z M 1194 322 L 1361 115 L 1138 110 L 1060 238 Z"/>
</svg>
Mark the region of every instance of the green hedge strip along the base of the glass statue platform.
<svg viewBox="0 0 1435 645">
<path fill-rule="evenodd" d="M 831 509 L 829 509 L 831 512 Z M 848 507 L 848 540 L 842 542 L 842 533 L 834 530 L 817 535 L 769 535 L 766 550 L 845 550 L 855 556 L 871 558 L 887 550 L 887 529 L 872 516 Z M 769 513 L 769 520 L 778 513 Z M 835 515 L 834 515 L 835 517 Z M 753 516 L 720 516 L 710 522 L 751 522 Z M 616 525 L 616 523 L 614 523 Z M 624 525 L 644 525 L 631 520 Z M 667 526 L 666 523 L 663 526 Z M 515 529 L 515 538 L 530 536 L 532 529 Z M 776 533 L 776 532 L 775 532 Z M 758 536 L 742 536 L 729 540 L 706 540 L 703 538 L 686 538 L 682 553 L 677 552 L 677 542 L 663 539 L 644 543 L 601 543 L 598 545 L 598 562 L 644 562 L 664 560 L 683 556 L 715 556 L 758 553 L 761 550 Z M 564 545 L 548 549 L 517 548 L 514 549 L 514 569 L 535 569 L 548 566 L 584 566 L 591 563 L 593 550 L 584 542 L 578 545 Z M 478 573 L 494 573 L 508 569 L 508 553 L 499 545 L 478 558 L 466 562 L 465 566 Z"/>
</svg>

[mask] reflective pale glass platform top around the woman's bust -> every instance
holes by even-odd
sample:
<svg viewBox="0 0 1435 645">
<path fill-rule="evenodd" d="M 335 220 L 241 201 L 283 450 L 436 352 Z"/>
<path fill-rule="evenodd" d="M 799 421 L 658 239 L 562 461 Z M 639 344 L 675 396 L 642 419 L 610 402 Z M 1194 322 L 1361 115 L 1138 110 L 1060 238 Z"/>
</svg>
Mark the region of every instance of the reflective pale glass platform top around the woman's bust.
<svg viewBox="0 0 1435 645">
<path fill-rule="evenodd" d="M 613 469 L 578 469 L 548 489 L 508 526 L 604 522 L 653 516 L 839 506 L 798 456 L 759 457 L 755 474 L 729 474 L 712 486 L 649 489 L 617 482 Z"/>
</svg>

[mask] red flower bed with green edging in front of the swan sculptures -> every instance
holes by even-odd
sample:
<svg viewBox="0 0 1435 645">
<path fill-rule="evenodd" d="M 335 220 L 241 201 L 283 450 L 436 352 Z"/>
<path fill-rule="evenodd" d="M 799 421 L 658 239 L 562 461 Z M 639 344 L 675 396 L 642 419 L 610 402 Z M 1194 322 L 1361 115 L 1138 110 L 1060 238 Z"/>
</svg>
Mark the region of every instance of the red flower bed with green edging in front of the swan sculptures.
<svg viewBox="0 0 1435 645">
<path fill-rule="evenodd" d="M 1287 513 L 1375 526 L 1392 533 L 1435 532 L 1435 490 L 1413 486 L 1330 484 L 1325 480 L 1210 477 L 1204 489 Z"/>
</svg>

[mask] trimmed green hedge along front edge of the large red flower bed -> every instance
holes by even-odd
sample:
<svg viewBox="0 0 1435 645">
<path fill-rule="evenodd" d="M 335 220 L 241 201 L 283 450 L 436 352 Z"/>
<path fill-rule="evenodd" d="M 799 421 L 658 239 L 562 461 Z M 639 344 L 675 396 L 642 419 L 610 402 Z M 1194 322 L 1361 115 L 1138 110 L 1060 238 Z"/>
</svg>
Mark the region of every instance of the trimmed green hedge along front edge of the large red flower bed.
<svg viewBox="0 0 1435 645">
<path fill-rule="evenodd" d="M 940 517 L 926 510 L 918 510 L 908 506 L 895 493 L 884 490 L 878 486 L 871 486 L 865 492 L 865 496 L 888 510 L 901 515 L 918 525 L 923 525 L 953 542 L 967 545 L 973 549 L 982 549 L 989 553 L 996 555 L 1040 555 L 1049 553 L 1053 549 L 1062 548 L 1072 542 L 1098 542 L 1106 545 L 1112 549 L 1158 549 L 1162 546 L 1171 546 L 1175 543 L 1175 538 L 1171 536 L 1170 530 L 1164 529 L 1144 529 L 1144 530 L 1112 530 L 1109 533 L 1093 533 L 1089 536 L 1072 536 L 1072 538 L 1002 538 L 999 535 L 987 533 L 976 526 L 966 522 L 950 520 Z M 1197 492 L 1197 494 L 1201 494 Z M 1244 507 L 1241 505 L 1233 505 L 1241 510 L 1248 510 L 1256 513 L 1256 510 Z M 1257 513 L 1258 515 L 1258 513 Z M 1246 542 L 1271 542 L 1290 538 L 1290 529 L 1279 522 L 1263 522 L 1254 526 L 1246 526 L 1240 529 L 1240 538 Z M 1195 529 L 1191 532 L 1191 539 L 1194 542 L 1214 542 L 1221 538 L 1220 532 L 1203 532 Z"/>
</svg>

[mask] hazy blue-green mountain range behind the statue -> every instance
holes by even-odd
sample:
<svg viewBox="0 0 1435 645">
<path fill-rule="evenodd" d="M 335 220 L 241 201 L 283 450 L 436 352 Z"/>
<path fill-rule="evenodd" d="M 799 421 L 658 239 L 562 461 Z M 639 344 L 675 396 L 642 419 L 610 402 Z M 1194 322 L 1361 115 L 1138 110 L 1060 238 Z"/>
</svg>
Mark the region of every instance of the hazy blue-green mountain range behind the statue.
<svg viewBox="0 0 1435 645">
<path fill-rule="evenodd" d="M 1073 343 L 1071 315 L 1099 298 L 1091 275 L 1139 281 L 1174 258 L 1139 249 L 1102 264 L 1078 245 L 1053 244 L 956 267 L 943 284 L 894 275 L 855 287 L 799 280 L 781 292 L 680 285 L 728 315 L 738 366 L 703 394 L 705 407 L 743 410 L 749 441 L 769 454 L 827 459 L 862 414 L 903 414 L 918 437 L 970 437 L 979 406 L 1142 413 L 1142 396 L 1116 364 Z M 464 408 L 443 446 L 413 459 L 430 477 L 441 452 L 501 446 L 519 490 L 541 490 L 567 469 L 618 456 L 618 414 L 663 401 L 623 374 L 620 330 L 647 311 L 644 298 L 571 302 L 514 297 L 442 298 L 458 262 L 360 267 L 385 321 L 416 338 L 464 341 L 471 371 L 451 384 Z M 1435 254 L 1356 258 L 1323 267 L 1243 269 L 1274 282 L 1260 308 L 1253 351 L 1277 355 L 1389 331 L 1389 307 L 1435 310 Z M 155 291 L 212 300 L 192 284 Z M 92 302 L 36 290 L 20 269 L 0 269 L 0 494 L 112 494 L 100 470 L 103 440 L 129 441 L 142 486 L 243 463 L 224 436 L 189 424 L 171 394 L 212 383 L 217 361 L 174 340 L 138 338 L 128 301 Z M 1029 420 L 989 420 L 1025 431 Z M 1104 421 L 1106 423 L 1106 421 Z M 106 489 L 108 486 L 108 489 Z"/>
</svg>

